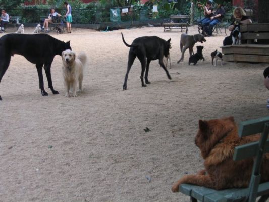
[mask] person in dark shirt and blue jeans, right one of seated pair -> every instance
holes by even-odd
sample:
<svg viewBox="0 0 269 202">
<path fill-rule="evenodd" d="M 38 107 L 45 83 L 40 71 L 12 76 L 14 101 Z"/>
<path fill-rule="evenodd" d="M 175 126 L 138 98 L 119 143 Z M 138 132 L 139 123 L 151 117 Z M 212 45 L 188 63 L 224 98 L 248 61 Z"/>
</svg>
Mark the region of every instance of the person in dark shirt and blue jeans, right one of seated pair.
<svg viewBox="0 0 269 202">
<path fill-rule="evenodd" d="M 213 16 L 210 17 L 210 21 L 204 23 L 205 36 L 212 36 L 213 27 L 220 23 L 225 15 L 225 10 L 221 4 L 218 5 L 217 11 L 213 13 Z"/>
</svg>

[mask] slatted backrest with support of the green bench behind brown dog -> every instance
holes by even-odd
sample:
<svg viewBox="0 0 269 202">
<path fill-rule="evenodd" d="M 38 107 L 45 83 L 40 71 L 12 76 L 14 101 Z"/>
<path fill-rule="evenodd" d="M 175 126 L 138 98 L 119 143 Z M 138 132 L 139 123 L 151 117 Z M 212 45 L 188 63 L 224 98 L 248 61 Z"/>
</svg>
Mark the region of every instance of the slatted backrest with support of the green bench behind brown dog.
<svg viewBox="0 0 269 202">
<path fill-rule="evenodd" d="M 251 180 L 249 183 L 248 201 L 256 200 L 261 177 L 260 167 L 262 162 L 262 156 L 264 153 L 269 152 L 269 117 L 244 121 L 240 123 L 238 130 L 239 137 L 245 137 L 257 133 L 261 133 L 261 137 L 258 142 L 252 142 L 235 147 L 233 156 L 234 161 L 255 157 Z"/>
</svg>

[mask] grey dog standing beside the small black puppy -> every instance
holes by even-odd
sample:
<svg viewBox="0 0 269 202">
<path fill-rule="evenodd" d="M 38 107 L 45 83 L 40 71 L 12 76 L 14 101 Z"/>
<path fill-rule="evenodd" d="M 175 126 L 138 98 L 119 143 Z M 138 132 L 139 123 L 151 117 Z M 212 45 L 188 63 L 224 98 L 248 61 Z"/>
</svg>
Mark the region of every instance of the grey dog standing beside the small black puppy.
<svg viewBox="0 0 269 202">
<path fill-rule="evenodd" d="M 188 35 L 186 33 L 181 34 L 180 37 L 180 51 L 182 53 L 181 58 L 177 63 L 184 60 L 184 53 L 189 48 L 190 56 L 193 55 L 193 46 L 196 42 L 205 42 L 205 38 L 202 34 Z"/>
</svg>

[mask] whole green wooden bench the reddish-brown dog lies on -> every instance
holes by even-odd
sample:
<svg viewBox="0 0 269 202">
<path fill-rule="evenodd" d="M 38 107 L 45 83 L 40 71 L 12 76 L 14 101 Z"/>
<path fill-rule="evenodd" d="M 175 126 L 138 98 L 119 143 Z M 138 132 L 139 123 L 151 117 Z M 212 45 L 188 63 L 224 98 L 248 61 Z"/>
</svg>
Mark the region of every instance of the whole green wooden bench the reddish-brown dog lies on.
<svg viewBox="0 0 269 202">
<path fill-rule="evenodd" d="M 191 201 L 193 202 L 197 200 L 202 202 L 254 202 L 258 196 L 263 196 L 262 201 L 265 201 L 266 195 L 269 194 L 269 182 L 262 184 L 259 184 L 259 182 L 261 177 L 261 159 L 264 153 L 269 152 L 269 139 L 267 139 L 269 133 L 269 117 L 240 123 L 239 137 L 253 135 L 256 133 L 262 133 L 259 142 L 252 142 L 235 147 L 233 156 L 234 161 L 255 157 L 248 188 L 233 188 L 218 191 L 191 184 L 182 184 L 179 187 L 179 191 L 190 196 Z"/>
</svg>

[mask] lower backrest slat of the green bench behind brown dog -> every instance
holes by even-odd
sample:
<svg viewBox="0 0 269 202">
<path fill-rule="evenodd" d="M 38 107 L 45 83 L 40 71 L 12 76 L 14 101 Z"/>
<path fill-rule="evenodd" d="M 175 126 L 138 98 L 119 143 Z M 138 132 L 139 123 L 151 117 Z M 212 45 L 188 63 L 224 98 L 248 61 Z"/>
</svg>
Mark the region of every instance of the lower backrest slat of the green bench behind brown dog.
<svg viewBox="0 0 269 202">
<path fill-rule="evenodd" d="M 257 155 L 258 147 L 259 147 L 259 142 L 252 142 L 249 144 L 236 146 L 233 160 L 239 161 L 239 160 L 255 157 Z M 265 143 L 264 153 L 266 152 L 269 152 L 269 139 Z"/>
</svg>

